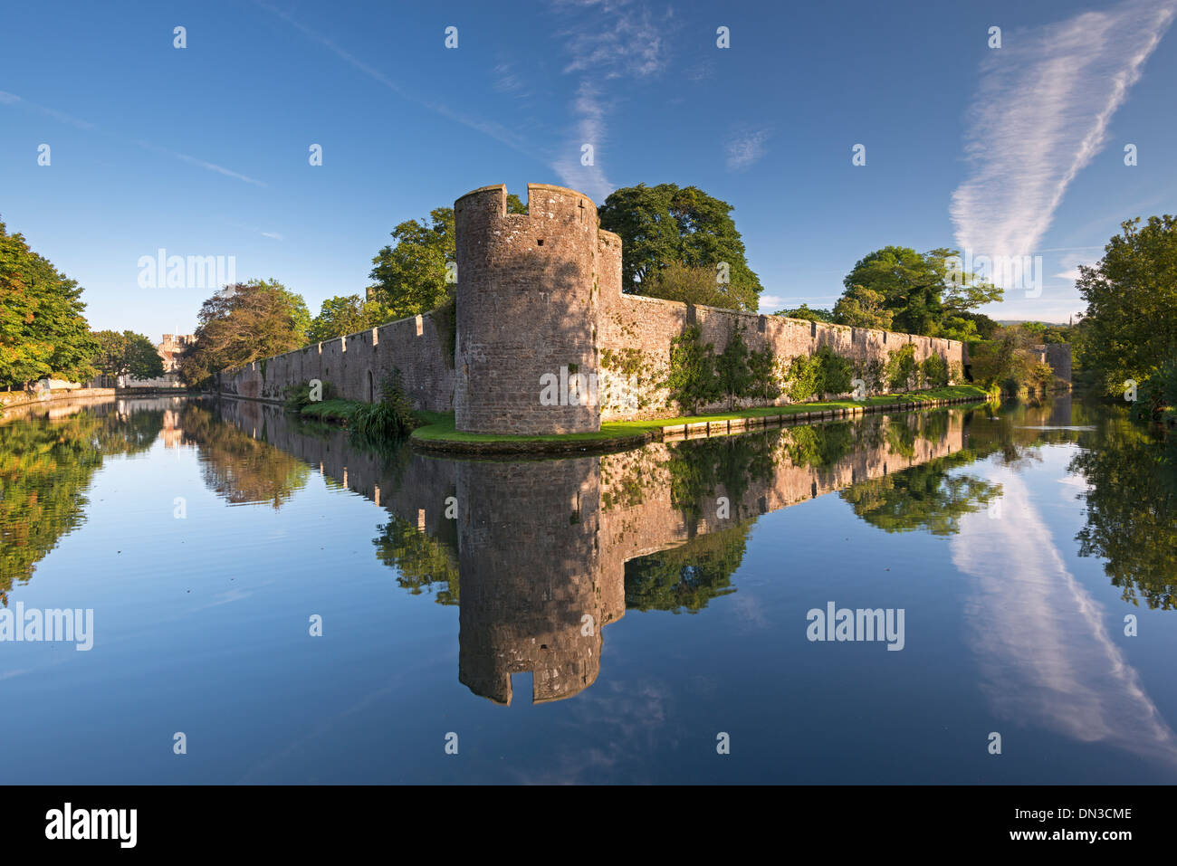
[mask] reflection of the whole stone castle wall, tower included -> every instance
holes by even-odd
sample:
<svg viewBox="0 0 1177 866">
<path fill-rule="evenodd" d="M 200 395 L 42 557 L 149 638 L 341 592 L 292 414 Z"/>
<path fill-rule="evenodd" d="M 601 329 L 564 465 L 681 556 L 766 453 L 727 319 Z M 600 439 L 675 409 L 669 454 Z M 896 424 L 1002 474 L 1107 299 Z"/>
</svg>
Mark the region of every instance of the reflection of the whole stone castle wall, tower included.
<svg viewBox="0 0 1177 866">
<path fill-rule="evenodd" d="M 222 400 L 221 415 L 432 538 L 457 538 L 458 677 L 476 694 L 503 704 L 512 699 L 514 673 L 532 672 L 534 701 L 568 698 L 592 685 L 600 671 L 601 629 L 625 613 L 626 560 L 952 454 L 965 442 L 958 412 L 942 413 L 935 425 L 929 414 L 872 415 L 842 422 L 859 431 L 855 447 L 813 467 L 789 457 L 792 437 L 809 428 L 750 433 L 765 442 L 767 475 L 749 478 L 738 495 L 720 484 L 714 495 L 686 508 L 672 500 L 671 461 L 684 459 L 680 449 L 722 440 L 519 462 L 406 451 L 398 462 L 351 448 L 343 431 L 322 438 L 298 433 L 292 417 L 274 406 Z M 889 425 L 909 435 L 889 437 Z M 900 449 L 893 441 L 909 445 Z M 717 513 L 720 495 L 730 499 L 729 517 Z M 457 533 L 445 517 L 447 497 L 457 499 Z"/>
</svg>

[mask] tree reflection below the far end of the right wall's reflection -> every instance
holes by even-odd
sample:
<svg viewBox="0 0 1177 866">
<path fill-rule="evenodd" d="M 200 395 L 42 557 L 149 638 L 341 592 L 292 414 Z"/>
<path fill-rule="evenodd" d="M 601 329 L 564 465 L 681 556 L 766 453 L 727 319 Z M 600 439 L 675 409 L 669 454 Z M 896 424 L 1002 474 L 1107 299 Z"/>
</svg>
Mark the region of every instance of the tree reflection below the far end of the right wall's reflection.
<svg viewBox="0 0 1177 866">
<path fill-rule="evenodd" d="M 840 491 L 855 514 L 886 532 L 927 529 L 933 535 L 959 532 L 962 514 L 980 511 L 1002 486 L 973 475 L 949 475 L 949 469 L 978 458 L 972 451 L 930 460 Z"/>
</svg>

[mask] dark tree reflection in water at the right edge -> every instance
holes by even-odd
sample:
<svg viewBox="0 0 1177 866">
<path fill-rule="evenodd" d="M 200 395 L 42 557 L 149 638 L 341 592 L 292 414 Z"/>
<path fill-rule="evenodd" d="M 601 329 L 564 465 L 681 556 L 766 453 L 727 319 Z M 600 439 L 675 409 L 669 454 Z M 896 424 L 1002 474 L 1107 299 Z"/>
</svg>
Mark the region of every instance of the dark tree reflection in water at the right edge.
<svg viewBox="0 0 1177 866">
<path fill-rule="evenodd" d="M 1090 488 L 1079 555 L 1106 560 L 1104 572 L 1125 601 L 1177 607 L 1177 442 L 1152 439 L 1123 413 L 1100 424 L 1099 442 L 1069 466 Z"/>
</svg>

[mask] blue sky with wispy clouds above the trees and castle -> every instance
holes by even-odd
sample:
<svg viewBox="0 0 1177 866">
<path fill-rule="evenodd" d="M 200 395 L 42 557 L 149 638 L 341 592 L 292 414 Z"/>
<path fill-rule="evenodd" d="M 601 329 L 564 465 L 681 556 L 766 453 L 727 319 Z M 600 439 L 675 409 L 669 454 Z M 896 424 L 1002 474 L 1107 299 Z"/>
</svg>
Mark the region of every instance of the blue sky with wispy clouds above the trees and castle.
<svg viewBox="0 0 1177 866">
<path fill-rule="evenodd" d="M 639 182 L 699 186 L 733 205 L 766 312 L 831 306 L 856 260 L 896 244 L 1042 255 L 1040 294 L 1015 287 L 985 312 L 1065 321 L 1083 308 L 1075 267 L 1121 220 L 1177 209 L 1175 12 L 1177 0 L 9 5 L 0 219 L 85 286 L 93 327 L 157 340 L 191 332 L 211 292 L 140 287 L 140 257 L 234 257 L 238 279 L 275 278 L 314 313 L 363 293 L 398 222 L 499 182 L 598 202 Z"/>
</svg>

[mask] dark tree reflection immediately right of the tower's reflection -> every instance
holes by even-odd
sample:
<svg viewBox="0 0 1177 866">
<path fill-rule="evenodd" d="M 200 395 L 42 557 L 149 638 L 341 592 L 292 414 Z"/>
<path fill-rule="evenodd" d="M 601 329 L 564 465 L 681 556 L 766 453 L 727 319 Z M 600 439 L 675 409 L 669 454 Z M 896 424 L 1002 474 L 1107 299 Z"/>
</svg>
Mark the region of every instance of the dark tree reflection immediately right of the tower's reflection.
<svg viewBox="0 0 1177 866">
<path fill-rule="evenodd" d="M 679 547 L 625 564 L 625 606 L 638 611 L 698 613 L 736 592 L 731 575 L 744 560 L 752 524 L 697 535 Z"/>
</svg>

